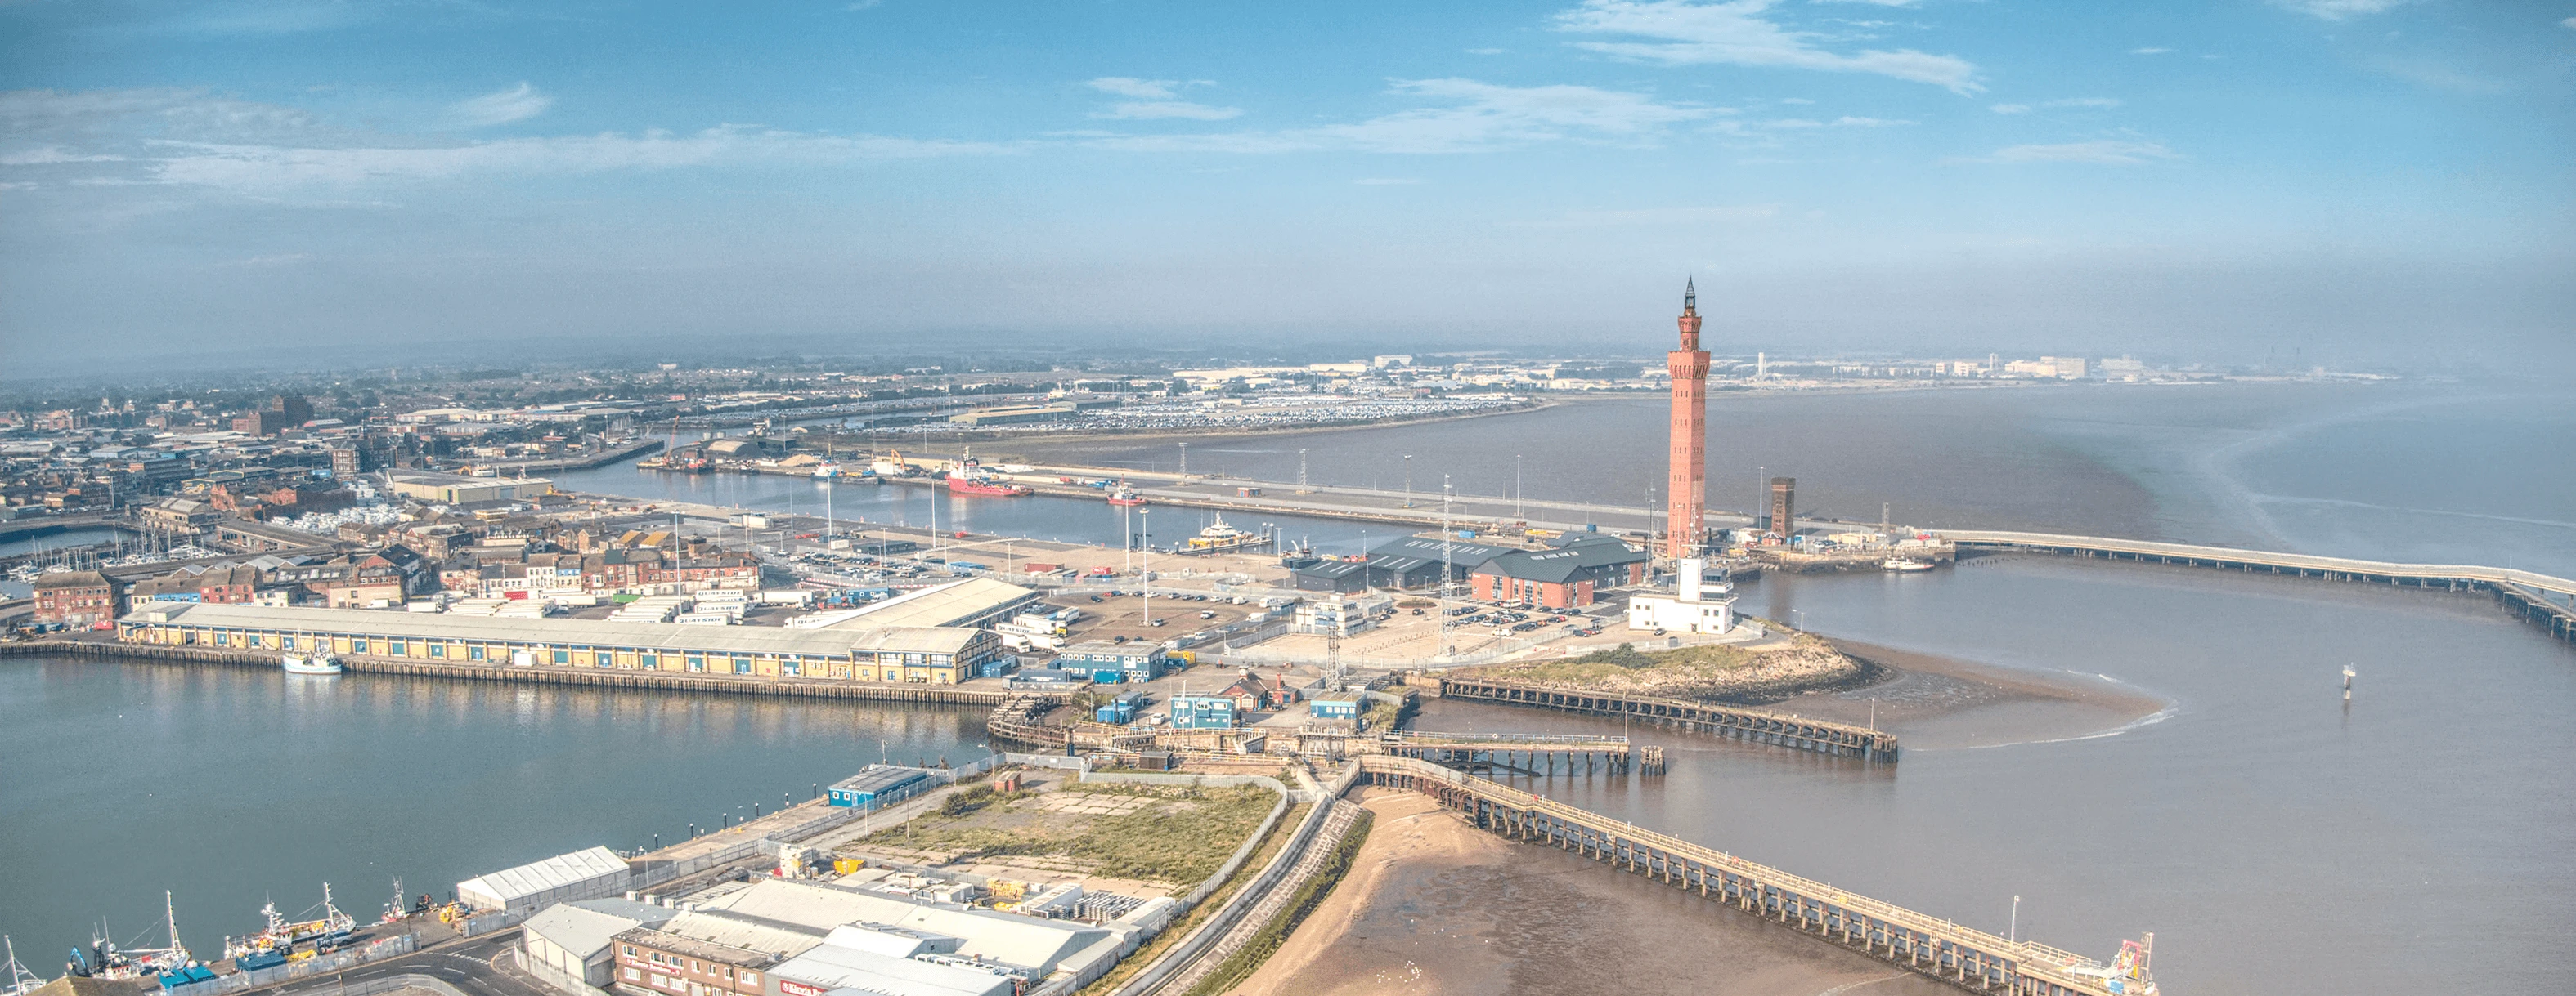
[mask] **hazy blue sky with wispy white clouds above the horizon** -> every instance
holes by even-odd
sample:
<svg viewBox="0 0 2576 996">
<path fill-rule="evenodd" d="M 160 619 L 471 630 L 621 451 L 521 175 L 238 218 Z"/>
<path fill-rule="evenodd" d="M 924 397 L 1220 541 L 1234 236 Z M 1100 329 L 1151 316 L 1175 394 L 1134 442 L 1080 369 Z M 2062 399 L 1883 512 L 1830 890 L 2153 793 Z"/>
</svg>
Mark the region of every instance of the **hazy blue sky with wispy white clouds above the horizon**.
<svg viewBox="0 0 2576 996">
<path fill-rule="evenodd" d="M 18 376 L 2576 360 L 2576 0 L 0 3 Z M 0 373 L 5 378 L 10 373 Z"/>
</svg>

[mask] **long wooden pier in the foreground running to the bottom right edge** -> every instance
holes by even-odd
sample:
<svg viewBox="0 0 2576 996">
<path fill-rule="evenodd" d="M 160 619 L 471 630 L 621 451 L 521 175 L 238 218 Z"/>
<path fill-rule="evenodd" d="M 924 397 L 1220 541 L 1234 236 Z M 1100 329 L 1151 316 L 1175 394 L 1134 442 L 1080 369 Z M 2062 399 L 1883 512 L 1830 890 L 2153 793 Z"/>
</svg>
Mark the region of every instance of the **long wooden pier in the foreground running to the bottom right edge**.
<svg viewBox="0 0 2576 996">
<path fill-rule="evenodd" d="M 1592 857 L 1968 991 L 2112 996 L 2089 957 L 1958 927 L 1425 759 L 1363 757 L 1360 785 L 1430 795 L 1479 829 Z"/>
</svg>

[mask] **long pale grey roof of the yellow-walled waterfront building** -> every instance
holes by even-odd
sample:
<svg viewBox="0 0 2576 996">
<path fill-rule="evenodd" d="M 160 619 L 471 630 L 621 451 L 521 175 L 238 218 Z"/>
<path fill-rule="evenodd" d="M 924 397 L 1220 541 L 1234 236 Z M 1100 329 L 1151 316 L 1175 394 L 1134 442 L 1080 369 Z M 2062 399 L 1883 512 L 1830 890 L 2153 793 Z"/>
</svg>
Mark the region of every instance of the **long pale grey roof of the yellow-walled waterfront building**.
<svg viewBox="0 0 2576 996">
<path fill-rule="evenodd" d="M 922 643 L 927 654 L 956 654 L 971 631 L 788 631 L 775 625 L 680 625 L 680 623 L 621 623 L 621 620 L 546 620 L 505 615 L 453 615 L 453 613 L 379 613 L 379 610 L 325 610 L 325 607 L 268 607 L 268 605 L 175 605 L 149 613 L 185 625 L 229 625 L 294 633 L 348 633 L 348 636 L 402 636 L 474 643 L 556 643 L 556 646 L 631 646 L 659 651 L 706 654 L 806 654 L 848 656 L 853 649 L 909 651 Z"/>
</svg>

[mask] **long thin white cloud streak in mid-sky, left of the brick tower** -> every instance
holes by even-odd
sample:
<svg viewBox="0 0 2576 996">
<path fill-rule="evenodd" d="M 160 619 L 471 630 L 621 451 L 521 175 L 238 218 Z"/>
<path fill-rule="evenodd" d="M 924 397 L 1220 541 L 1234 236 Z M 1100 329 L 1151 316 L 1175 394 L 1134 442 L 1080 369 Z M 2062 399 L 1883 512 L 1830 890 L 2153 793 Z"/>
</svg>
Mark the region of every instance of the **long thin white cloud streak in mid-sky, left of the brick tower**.
<svg viewBox="0 0 2576 996">
<path fill-rule="evenodd" d="M 1394 80 L 1386 93 L 1435 106 L 1355 124 L 1283 131 L 1218 131 L 1092 139 L 1128 152 L 1494 152 L 1543 142 L 1654 144 L 1680 121 L 1716 108 L 1659 103 L 1643 93 L 1577 85 L 1507 88 L 1479 80 Z"/>
</svg>

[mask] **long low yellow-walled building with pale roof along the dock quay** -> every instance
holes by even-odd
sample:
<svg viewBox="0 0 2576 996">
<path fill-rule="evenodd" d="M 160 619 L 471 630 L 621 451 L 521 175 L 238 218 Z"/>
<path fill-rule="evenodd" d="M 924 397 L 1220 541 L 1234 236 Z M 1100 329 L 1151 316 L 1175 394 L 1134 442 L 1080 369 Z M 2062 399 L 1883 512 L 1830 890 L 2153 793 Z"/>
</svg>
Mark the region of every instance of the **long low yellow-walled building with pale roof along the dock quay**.
<svg viewBox="0 0 2576 996">
<path fill-rule="evenodd" d="M 448 664 L 554 664 L 641 672 L 956 685 L 1002 656 L 969 628 L 819 628 L 546 620 L 268 605 L 152 602 L 116 623 L 126 643 L 402 656 Z"/>
</svg>

